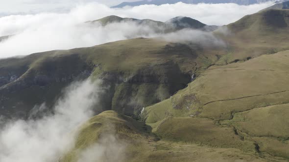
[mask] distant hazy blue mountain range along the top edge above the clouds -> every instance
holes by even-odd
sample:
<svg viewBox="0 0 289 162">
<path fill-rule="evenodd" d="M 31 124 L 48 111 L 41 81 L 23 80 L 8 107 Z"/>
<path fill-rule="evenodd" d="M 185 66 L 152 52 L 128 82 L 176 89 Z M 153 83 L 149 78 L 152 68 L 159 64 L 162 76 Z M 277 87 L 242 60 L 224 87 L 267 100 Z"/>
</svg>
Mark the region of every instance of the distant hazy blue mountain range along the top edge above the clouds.
<svg viewBox="0 0 289 162">
<path fill-rule="evenodd" d="M 240 5 L 249 5 L 261 3 L 269 0 L 140 0 L 135 2 L 122 2 L 119 5 L 113 6 L 112 8 L 122 8 L 124 6 L 139 6 L 144 4 L 154 4 L 154 5 L 162 5 L 162 4 L 174 4 L 177 2 L 183 2 L 187 4 L 197 4 L 197 3 L 236 3 Z"/>
</svg>

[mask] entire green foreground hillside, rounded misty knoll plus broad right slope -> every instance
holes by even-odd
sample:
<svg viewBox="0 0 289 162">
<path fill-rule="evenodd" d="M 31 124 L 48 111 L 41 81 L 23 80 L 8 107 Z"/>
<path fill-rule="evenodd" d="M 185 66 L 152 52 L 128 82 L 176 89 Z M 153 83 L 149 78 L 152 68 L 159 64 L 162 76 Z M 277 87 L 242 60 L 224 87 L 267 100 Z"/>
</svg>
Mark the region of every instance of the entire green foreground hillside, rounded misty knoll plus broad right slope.
<svg viewBox="0 0 289 162">
<path fill-rule="evenodd" d="M 60 162 L 77 162 L 79 150 L 103 141 L 114 147 L 105 150 L 102 161 L 286 162 L 288 56 L 289 51 L 283 51 L 211 66 L 169 99 L 145 107 L 145 122 L 102 112 L 79 128 L 77 144 Z M 106 137 L 112 135 L 116 139 L 110 143 Z M 120 154 L 126 156 L 104 156 L 115 147 L 119 150 L 118 143 L 125 145 Z"/>
</svg>

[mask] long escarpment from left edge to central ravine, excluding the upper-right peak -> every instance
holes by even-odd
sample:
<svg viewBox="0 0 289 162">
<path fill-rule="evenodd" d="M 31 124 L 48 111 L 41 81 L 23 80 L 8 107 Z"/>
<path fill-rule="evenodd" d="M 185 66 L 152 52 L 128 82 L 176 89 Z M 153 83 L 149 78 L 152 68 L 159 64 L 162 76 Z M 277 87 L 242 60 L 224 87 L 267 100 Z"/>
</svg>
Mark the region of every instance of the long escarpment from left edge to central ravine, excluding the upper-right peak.
<svg viewBox="0 0 289 162">
<path fill-rule="evenodd" d="M 96 114 L 112 109 L 136 117 L 144 106 L 184 88 L 196 64 L 180 63 L 195 58 L 187 45 L 134 39 L 4 59 L 0 65 L 0 113 L 25 118 L 35 105 L 45 102 L 51 107 L 71 82 L 91 77 L 100 79 L 103 86 Z"/>
</svg>

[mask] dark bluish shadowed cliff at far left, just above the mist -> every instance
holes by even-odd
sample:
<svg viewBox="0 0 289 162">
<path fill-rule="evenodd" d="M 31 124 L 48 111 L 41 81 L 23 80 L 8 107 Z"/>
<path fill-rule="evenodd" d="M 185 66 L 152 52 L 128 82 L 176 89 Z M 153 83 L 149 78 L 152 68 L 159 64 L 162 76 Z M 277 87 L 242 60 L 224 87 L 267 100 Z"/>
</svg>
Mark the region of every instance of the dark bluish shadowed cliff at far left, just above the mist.
<svg viewBox="0 0 289 162">
<path fill-rule="evenodd" d="M 34 105 L 46 103 L 48 107 L 62 93 L 62 89 L 73 81 L 87 79 L 92 70 L 84 70 L 58 78 L 48 75 L 35 75 L 32 78 L 12 78 L 0 88 L 0 114 L 26 118 Z"/>
</svg>

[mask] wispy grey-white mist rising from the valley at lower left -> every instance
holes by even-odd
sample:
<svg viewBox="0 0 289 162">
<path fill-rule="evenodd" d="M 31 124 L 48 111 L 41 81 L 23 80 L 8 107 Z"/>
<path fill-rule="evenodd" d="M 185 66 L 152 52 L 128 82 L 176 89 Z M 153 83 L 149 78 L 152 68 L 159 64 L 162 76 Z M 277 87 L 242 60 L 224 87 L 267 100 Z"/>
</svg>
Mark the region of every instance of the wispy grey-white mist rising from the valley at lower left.
<svg viewBox="0 0 289 162">
<path fill-rule="evenodd" d="M 5 121 L 0 130 L 0 162 L 57 162 L 72 148 L 79 124 L 93 116 L 101 91 L 98 84 L 72 83 L 56 102 L 54 113 L 43 118 Z"/>
</svg>

